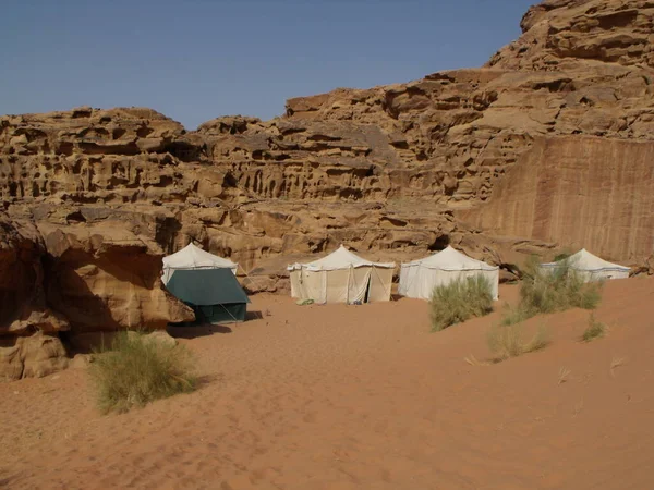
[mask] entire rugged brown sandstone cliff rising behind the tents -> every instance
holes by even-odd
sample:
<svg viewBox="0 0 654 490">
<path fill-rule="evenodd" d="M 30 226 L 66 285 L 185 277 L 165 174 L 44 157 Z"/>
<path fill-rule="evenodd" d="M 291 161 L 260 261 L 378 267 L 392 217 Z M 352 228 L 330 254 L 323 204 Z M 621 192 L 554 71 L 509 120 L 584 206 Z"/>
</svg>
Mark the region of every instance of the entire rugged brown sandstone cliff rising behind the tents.
<svg viewBox="0 0 654 490">
<path fill-rule="evenodd" d="M 484 68 L 191 133 L 138 108 L 0 117 L 0 336 L 190 319 L 158 279 L 190 241 L 254 292 L 341 243 L 396 261 L 451 243 L 509 271 L 584 246 L 652 270 L 653 26 L 649 0 L 547 0 Z"/>
</svg>

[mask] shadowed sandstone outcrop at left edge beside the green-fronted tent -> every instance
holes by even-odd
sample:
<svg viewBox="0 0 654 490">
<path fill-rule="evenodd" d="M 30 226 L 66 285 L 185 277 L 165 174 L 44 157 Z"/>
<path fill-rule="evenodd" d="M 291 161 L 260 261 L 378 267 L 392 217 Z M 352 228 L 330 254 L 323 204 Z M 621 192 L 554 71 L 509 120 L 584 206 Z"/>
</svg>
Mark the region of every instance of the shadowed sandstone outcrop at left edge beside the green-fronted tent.
<svg viewBox="0 0 654 490">
<path fill-rule="evenodd" d="M 59 332 L 70 347 L 87 332 L 162 329 L 194 318 L 161 289 L 156 242 L 134 233 L 134 226 L 153 224 L 146 219 L 138 223 L 135 213 L 66 205 L 10 209 L 12 216 L 0 221 L 1 379 L 66 367 Z M 71 213 L 88 221 L 60 222 Z"/>
</svg>

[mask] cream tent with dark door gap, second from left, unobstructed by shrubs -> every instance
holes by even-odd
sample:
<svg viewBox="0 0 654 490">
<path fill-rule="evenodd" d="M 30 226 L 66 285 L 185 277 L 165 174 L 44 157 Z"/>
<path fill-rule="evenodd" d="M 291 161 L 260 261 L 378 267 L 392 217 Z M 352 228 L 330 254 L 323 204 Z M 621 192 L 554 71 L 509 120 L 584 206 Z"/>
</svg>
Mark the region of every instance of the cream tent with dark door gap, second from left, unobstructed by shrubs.
<svg viewBox="0 0 654 490">
<path fill-rule="evenodd" d="M 365 260 L 341 245 L 322 259 L 287 269 L 292 297 L 352 304 L 390 299 L 395 264 Z"/>
</svg>

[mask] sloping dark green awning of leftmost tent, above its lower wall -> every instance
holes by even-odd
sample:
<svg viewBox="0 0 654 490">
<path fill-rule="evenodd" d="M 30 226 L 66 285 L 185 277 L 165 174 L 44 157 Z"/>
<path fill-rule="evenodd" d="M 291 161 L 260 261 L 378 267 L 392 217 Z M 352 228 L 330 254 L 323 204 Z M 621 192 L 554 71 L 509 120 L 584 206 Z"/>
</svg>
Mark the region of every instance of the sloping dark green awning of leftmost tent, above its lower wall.
<svg viewBox="0 0 654 490">
<path fill-rule="evenodd" d="M 250 303 L 229 269 L 175 270 L 167 287 L 181 301 L 197 306 Z"/>
</svg>

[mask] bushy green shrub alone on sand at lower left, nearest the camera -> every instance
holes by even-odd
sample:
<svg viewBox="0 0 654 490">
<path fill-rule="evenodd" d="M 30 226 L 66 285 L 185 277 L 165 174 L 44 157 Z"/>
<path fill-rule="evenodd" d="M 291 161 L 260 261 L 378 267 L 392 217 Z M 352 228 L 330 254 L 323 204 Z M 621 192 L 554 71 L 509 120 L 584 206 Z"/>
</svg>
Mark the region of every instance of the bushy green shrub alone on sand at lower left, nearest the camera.
<svg viewBox="0 0 654 490">
<path fill-rule="evenodd" d="M 126 412 L 196 385 L 189 351 L 141 332 L 117 333 L 109 348 L 96 353 L 89 375 L 104 413 Z"/>
</svg>

